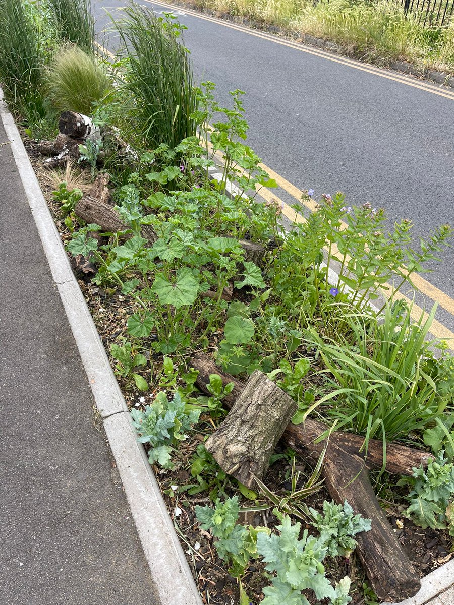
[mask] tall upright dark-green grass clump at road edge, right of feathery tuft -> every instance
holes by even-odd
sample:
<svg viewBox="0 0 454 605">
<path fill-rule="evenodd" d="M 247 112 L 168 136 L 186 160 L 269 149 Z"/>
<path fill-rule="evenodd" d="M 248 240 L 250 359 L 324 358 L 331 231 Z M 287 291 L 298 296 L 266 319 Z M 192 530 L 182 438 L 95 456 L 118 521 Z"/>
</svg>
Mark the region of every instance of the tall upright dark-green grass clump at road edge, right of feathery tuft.
<svg viewBox="0 0 454 605">
<path fill-rule="evenodd" d="M 124 13 L 115 25 L 128 57 L 125 86 L 134 97 L 135 134 L 148 146 L 175 147 L 196 132 L 190 117 L 196 93 L 180 25 L 134 3 Z"/>
</svg>

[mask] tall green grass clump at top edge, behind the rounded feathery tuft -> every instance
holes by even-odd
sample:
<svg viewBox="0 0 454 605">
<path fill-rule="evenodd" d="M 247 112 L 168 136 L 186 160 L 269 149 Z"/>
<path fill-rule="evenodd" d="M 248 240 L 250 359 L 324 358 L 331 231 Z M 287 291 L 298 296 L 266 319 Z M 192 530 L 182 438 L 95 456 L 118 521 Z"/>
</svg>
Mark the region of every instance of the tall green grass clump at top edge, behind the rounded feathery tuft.
<svg viewBox="0 0 454 605">
<path fill-rule="evenodd" d="M 90 0 L 49 0 L 49 3 L 61 40 L 93 53 L 94 15 Z"/>
</svg>

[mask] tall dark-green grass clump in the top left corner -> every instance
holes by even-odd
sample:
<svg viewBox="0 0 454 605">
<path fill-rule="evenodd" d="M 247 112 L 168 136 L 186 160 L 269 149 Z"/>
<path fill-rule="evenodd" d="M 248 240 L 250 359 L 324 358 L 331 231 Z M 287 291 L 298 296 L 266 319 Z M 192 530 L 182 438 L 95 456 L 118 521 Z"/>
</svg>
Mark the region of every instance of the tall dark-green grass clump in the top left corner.
<svg viewBox="0 0 454 605">
<path fill-rule="evenodd" d="M 39 33 L 22 0 L 0 0 L 0 80 L 5 98 L 22 117 L 45 117 L 44 57 Z"/>
</svg>

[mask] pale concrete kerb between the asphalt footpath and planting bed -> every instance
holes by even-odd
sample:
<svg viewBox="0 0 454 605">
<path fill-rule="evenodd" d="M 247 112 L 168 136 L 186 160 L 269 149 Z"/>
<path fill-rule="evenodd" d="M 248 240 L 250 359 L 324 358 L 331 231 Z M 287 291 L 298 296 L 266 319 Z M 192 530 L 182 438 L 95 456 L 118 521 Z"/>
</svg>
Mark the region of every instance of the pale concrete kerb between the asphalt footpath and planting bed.
<svg viewBox="0 0 454 605">
<path fill-rule="evenodd" d="M 35 218 L 42 246 L 61 295 L 93 396 L 123 482 L 146 561 L 162 605 L 202 605 L 143 446 L 130 416 L 90 310 L 73 275 L 35 171 L 0 88 L 0 117 Z"/>
</svg>

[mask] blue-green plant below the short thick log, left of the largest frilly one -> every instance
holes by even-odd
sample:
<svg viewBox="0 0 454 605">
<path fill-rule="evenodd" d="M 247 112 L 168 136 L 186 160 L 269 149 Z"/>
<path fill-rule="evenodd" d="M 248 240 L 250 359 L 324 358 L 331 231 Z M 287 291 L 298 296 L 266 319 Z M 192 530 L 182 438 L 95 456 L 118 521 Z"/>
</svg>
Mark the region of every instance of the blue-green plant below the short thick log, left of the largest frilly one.
<svg viewBox="0 0 454 605">
<path fill-rule="evenodd" d="M 242 576 L 251 557 L 257 557 L 257 537 L 269 535 L 269 529 L 237 525 L 240 512 L 238 496 L 221 502 L 216 500 L 215 508 L 196 506 L 196 517 L 202 529 L 211 531 L 217 538 L 217 554 L 231 565 L 229 571 L 235 577 Z"/>
</svg>

